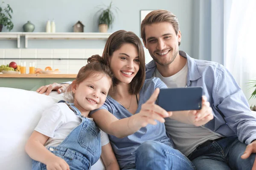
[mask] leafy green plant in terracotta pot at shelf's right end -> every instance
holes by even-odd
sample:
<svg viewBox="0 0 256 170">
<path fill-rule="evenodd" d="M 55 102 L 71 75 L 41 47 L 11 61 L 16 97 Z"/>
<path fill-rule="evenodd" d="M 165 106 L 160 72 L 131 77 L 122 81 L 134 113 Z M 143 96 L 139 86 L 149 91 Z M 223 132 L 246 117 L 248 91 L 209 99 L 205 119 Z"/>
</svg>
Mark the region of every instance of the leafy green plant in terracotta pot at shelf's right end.
<svg viewBox="0 0 256 170">
<path fill-rule="evenodd" d="M 116 9 L 118 8 L 112 5 L 112 1 L 109 6 L 105 6 L 104 8 L 99 9 L 98 12 L 101 12 L 99 15 L 99 32 L 107 32 L 108 28 L 113 25 L 115 20 L 113 10 L 116 11 Z"/>
</svg>

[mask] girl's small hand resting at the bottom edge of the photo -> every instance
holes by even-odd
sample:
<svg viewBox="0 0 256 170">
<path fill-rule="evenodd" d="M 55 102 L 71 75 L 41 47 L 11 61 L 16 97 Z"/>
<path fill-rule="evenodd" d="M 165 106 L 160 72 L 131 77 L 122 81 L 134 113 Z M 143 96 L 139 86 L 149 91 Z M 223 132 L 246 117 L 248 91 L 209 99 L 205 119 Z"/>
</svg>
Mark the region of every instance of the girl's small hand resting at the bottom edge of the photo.
<svg viewBox="0 0 256 170">
<path fill-rule="evenodd" d="M 46 168 L 47 170 L 70 170 L 67 162 L 58 156 L 49 158 L 46 163 Z"/>
</svg>

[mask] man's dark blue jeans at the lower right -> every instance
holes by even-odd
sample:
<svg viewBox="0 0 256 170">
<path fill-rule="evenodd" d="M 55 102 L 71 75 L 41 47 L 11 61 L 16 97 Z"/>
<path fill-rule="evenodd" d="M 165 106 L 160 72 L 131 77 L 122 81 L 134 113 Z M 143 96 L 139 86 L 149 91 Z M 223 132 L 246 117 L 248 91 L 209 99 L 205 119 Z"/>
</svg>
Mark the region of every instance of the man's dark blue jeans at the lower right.
<svg viewBox="0 0 256 170">
<path fill-rule="evenodd" d="M 246 147 L 247 144 L 241 143 L 237 136 L 231 136 L 196 149 L 188 158 L 196 170 L 251 170 L 255 153 L 242 159 Z"/>
</svg>

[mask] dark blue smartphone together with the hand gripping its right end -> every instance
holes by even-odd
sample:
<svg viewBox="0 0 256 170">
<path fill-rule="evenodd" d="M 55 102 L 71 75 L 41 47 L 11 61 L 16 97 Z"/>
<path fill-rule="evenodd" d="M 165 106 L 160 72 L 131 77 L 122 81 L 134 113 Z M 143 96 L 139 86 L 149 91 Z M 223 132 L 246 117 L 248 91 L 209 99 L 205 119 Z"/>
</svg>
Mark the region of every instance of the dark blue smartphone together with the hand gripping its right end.
<svg viewBox="0 0 256 170">
<path fill-rule="evenodd" d="M 172 119 L 201 126 L 213 119 L 212 108 L 201 87 L 160 89 L 158 105 L 173 112 Z"/>
</svg>

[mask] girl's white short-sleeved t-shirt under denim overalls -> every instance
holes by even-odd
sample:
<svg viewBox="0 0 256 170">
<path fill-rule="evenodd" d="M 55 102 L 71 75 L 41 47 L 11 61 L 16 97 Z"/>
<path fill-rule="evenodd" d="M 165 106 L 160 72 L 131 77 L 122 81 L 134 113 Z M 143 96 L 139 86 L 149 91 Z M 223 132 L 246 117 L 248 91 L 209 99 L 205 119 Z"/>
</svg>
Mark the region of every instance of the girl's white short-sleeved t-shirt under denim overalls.
<svg viewBox="0 0 256 170">
<path fill-rule="evenodd" d="M 35 131 L 49 136 L 44 144 L 45 147 L 57 147 L 75 127 L 81 124 L 81 121 L 67 104 L 57 103 L 44 111 Z M 102 130 L 100 133 L 101 144 L 104 146 L 109 143 L 108 134 Z"/>
</svg>

